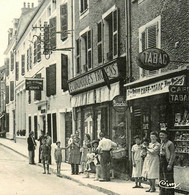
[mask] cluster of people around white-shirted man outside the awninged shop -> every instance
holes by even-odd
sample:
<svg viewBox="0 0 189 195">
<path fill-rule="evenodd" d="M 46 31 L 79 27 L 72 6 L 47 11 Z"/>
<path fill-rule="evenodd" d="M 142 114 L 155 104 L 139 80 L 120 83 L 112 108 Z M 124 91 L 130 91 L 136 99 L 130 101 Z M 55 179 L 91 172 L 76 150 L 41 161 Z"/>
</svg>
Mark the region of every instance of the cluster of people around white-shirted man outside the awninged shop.
<svg viewBox="0 0 189 195">
<path fill-rule="evenodd" d="M 77 131 L 68 141 L 71 174 L 78 175 L 80 165 L 80 173 L 84 173 L 85 177 L 89 178 L 91 166 L 95 165 L 95 181 L 110 181 L 110 151 L 116 146 L 117 144 L 105 138 L 103 133 L 100 133 L 100 140 L 93 141 L 89 134 L 85 134 L 81 144 Z"/>
</svg>

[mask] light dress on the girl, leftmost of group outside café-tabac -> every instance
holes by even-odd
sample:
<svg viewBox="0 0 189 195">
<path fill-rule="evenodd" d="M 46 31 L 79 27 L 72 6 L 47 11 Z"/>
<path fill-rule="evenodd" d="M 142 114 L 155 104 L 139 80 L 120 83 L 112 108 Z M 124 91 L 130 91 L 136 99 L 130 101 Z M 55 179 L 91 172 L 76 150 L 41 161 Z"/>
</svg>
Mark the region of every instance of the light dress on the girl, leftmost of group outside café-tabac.
<svg viewBox="0 0 189 195">
<path fill-rule="evenodd" d="M 133 167 L 132 177 L 142 177 L 142 147 L 141 145 L 135 144 L 132 146 L 131 151 L 134 153 L 134 162 L 136 164 L 136 166 Z"/>
</svg>

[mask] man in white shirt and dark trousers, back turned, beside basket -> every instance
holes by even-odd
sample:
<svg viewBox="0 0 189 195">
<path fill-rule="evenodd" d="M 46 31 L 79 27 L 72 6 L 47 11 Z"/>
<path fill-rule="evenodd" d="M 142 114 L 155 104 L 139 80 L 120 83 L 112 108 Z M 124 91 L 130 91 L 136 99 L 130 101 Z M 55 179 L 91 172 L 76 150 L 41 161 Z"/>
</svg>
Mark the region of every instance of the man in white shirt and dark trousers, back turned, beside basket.
<svg viewBox="0 0 189 195">
<path fill-rule="evenodd" d="M 102 179 L 99 181 L 110 181 L 110 150 L 113 147 L 117 147 L 117 144 L 110 139 L 105 138 L 103 133 L 100 133 L 100 139 L 98 150 L 101 154 L 100 165 L 102 169 Z"/>
</svg>

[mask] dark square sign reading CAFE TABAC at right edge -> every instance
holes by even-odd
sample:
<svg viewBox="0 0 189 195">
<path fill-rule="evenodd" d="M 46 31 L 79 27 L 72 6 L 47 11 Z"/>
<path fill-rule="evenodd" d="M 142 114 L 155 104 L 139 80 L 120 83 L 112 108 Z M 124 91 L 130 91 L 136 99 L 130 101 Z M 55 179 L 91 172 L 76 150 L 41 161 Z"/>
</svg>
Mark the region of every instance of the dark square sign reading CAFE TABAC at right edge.
<svg viewBox="0 0 189 195">
<path fill-rule="evenodd" d="M 181 103 L 189 102 L 189 87 L 188 86 L 169 86 L 169 102 Z"/>
</svg>

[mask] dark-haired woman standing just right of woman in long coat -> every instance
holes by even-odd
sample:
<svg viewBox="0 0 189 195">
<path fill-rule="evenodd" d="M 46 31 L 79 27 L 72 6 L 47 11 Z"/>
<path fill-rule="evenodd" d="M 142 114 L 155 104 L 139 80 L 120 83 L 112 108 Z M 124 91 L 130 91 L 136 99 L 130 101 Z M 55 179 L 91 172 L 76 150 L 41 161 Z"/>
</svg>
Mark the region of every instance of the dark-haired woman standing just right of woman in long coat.
<svg viewBox="0 0 189 195">
<path fill-rule="evenodd" d="M 81 148 L 81 165 L 82 165 L 82 173 L 84 173 L 86 169 L 87 163 L 87 154 L 90 153 L 91 150 L 91 137 L 89 134 L 85 134 L 83 147 Z"/>
</svg>

